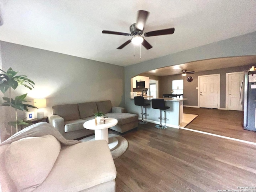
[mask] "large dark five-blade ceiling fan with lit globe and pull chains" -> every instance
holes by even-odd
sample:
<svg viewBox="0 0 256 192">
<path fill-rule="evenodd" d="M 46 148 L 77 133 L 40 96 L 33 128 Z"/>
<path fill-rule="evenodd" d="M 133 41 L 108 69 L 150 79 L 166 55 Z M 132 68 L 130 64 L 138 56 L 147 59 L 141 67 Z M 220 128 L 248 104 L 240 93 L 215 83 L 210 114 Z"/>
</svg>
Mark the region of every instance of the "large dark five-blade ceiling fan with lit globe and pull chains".
<svg viewBox="0 0 256 192">
<path fill-rule="evenodd" d="M 136 23 L 134 23 L 130 26 L 131 34 L 130 33 L 116 32 L 116 31 L 107 31 L 107 30 L 103 30 L 102 33 L 132 36 L 131 39 L 126 41 L 124 44 L 119 46 L 117 49 L 124 48 L 130 42 L 132 42 L 135 45 L 142 44 L 146 49 L 151 49 L 152 46 L 144 39 L 144 37 L 173 34 L 174 33 L 174 28 L 168 28 L 168 29 L 145 32 L 144 35 L 143 35 L 143 30 L 144 30 L 144 26 L 146 24 L 146 20 L 148 18 L 148 15 L 149 15 L 148 11 L 138 10 L 137 21 L 136 21 Z"/>
</svg>

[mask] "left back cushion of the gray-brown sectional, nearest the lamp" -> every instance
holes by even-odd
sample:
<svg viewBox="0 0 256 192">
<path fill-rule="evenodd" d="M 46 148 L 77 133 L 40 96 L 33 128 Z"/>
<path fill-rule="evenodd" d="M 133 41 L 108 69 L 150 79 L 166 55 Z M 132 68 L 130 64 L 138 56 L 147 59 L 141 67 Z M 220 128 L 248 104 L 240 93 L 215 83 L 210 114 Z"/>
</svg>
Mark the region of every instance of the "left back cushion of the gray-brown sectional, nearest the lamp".
<svg viewBox="0 0 256 192">
<path fill-rule="evenodd" d="M 52 106 L 52 114 L 61 116 L 64 121 L 80 119 L 78 104 Z"/>
</svg>

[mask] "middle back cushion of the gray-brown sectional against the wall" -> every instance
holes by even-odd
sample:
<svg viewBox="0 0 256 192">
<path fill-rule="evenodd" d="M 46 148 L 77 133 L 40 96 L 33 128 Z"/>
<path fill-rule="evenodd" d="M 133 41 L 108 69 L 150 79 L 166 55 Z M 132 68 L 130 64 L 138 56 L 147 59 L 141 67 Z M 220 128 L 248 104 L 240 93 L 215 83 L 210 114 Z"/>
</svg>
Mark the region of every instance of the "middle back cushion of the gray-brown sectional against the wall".
<svg viewBox="0 0 256 192">
<path fill-rule="evenodd" d="M 80 112 L 80 118 L 86 118 L 94 116 L 94 113 L 98 112 L 95 102 L 79 103 L 78 109 Z"/>
</svg>

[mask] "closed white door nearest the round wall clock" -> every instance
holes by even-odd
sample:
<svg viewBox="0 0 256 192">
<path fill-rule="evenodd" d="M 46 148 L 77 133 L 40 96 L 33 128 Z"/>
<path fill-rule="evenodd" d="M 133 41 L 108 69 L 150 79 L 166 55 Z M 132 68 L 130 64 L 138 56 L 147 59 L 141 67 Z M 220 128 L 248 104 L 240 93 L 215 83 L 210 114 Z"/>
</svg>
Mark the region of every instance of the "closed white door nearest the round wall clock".
<svg viewBox="0 0 256 192">
<path fill-rule="evenodd" d="M 218 108 L 218 75 L 201 76 L 200 107 Z"/>
</svg>

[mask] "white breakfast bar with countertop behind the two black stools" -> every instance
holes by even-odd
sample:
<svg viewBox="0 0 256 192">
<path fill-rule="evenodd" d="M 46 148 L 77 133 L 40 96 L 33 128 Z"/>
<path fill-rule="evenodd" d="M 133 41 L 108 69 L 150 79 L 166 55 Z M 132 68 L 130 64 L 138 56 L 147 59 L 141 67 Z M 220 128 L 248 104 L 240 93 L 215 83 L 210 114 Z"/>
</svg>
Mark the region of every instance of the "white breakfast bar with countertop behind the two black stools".
<svg viewBox="0 0 256 192">
<path fill-rule="evenodd" d="M 133 98 L 132 98 L 133 99 Z M 147 116 L 144 116 L 144 120 L 147 122 L 152 122 L 155 124 L 159 124 L 160 120 L 158 117 L 160 116 L 158 109 L 153 109 L 151 100 L 153 98 L 144 98 L 145 103 L 150 103 L 150 106 L 145 107 L 145 113 Z M 162 124 L 168 127 L 179 128 L 180 124 L 182 123 L 182 116 L 183 116 L 183 101 L 187 100 L 182 98 L 158 98 L 164 99 L 165 106 L 170 107 L 170 109 L 162 111 L 162 117 L 166 118 L 162 120 Z M 141 109 L 138 107 L 138 113 L 141 112 Z M 140 119 L 140 118 L 139 118 Z"/>
</svg>

